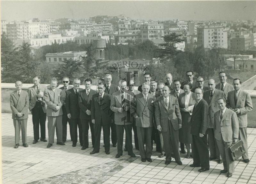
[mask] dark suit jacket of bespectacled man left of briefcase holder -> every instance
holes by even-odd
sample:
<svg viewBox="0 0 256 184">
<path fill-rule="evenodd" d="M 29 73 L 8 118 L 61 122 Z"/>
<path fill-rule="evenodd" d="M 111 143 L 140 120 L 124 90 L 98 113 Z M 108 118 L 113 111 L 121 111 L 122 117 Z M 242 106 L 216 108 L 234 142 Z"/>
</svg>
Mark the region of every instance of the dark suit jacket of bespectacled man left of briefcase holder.
<svg viewBox="0 0 256 184">
<path fill-rule="evenodd" d="M 207 134 L 209 127 L 209 105 L 204 99 L 194 107 L 193 114 L 191 115 L 191 134 L 199 136 L 201 134 Z"/>
</svg>

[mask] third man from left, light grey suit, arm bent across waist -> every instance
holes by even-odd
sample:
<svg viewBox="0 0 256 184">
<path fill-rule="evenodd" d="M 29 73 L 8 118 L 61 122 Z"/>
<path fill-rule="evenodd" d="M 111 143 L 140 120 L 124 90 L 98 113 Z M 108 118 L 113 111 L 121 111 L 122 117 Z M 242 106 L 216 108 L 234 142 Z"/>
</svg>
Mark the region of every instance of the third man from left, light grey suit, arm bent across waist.
<svg viewBox="0 0 256 184">
<path fill-rule="evenodd" d="M 63 96 L 62 90 L 57 87 L 57 79 L 52 77 L 51 86 L 44 91 L 44 99 L 47 104 L 46 114 L 48 119 L 48 137 L 49 144 L 47 148 L 50 148 L 54 143 L 54 133 L 56 127 L 57 144 L 65 145 L 62 142 L 62 109 Z"/>
</svg>

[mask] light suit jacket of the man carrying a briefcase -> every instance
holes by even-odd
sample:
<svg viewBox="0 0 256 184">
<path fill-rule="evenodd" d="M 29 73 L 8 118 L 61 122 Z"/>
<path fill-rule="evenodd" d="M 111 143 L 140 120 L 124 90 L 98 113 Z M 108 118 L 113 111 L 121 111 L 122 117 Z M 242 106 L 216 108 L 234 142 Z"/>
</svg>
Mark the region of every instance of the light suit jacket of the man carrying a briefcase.
<svg viewBox="0 0 256 184">
<path fill-rule="evenodd" d="M 233 138 L 238 139 L 239 122 L 236 113 L 228 108 L 220 120 L 220 110 L 214 114 L 214 137 L 218 141 L 221 136 L 224 142 L 232 142 Z"/>
</svg>

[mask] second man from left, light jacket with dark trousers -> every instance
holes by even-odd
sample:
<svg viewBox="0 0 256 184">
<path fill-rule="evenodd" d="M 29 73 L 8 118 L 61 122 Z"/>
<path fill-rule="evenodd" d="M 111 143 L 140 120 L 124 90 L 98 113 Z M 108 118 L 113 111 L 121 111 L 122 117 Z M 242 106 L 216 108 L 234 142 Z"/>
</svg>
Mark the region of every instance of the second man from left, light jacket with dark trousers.
<svg viewBox="0 0 256 184">
<path fill-rule="evenodd" d="M 46 86 L 40 84 L 39 76 L 33 77 L 34 85 L 28 88 L 29 111 L 32 114 L 34 141 L 36 144 L 39 140 L 39 124 L 40 124 L 40 141 L 47 142 L 45 139 L 45 121 L 46 121 L 46 105 L 44 101 L 44 91 Z"/>
</svg>

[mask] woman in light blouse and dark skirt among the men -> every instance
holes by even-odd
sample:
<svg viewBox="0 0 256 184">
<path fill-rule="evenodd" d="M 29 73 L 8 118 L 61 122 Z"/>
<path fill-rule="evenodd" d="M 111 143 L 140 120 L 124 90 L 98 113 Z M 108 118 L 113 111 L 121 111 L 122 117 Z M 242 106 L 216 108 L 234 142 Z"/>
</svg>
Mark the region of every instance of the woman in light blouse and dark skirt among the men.
<svg viewBox="0 0 256 184">
<path fill-rule="evenodd" d="M 195 95 L 191 92 L 193 85 L 190 82 L 185 82 L 183 84 L 184 93 L 179 96 L 180 113 L 182 118 L 182 127 L 179 129 L 179 140 L 180 143 L 186 144 L 187 156 L 185 158 L 190 158 L 190 144 L 192 144 L 192 135 L 190 134 L 190 120 L 193 107 L 196 103 Z"/>
</svg>

